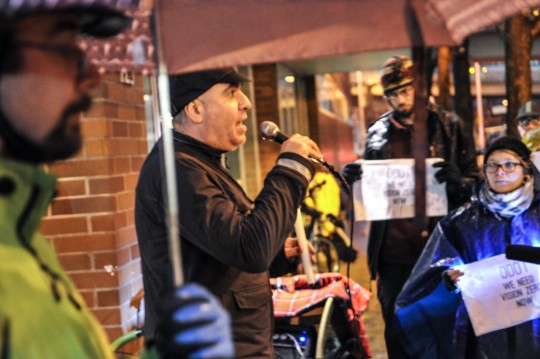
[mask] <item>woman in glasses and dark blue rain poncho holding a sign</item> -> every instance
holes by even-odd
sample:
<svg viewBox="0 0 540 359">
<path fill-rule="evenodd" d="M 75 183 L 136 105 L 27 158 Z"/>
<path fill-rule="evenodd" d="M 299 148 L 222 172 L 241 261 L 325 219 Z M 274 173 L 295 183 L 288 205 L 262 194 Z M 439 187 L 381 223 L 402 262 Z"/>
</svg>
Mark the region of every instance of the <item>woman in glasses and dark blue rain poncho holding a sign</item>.
<svg viewBox="0 0 540 359">
<path fill-rule="evenodd" d="M 444 217 L 431 235 L 396 301 L 396 323 L 402 329 L 405 347 L 411 355 L 421 358 L 540 357 L 538 318 L 475 334 L 477 329 L 473 331 L 471 318 L 480 322 L 482 318 L 473 317 L 458 294 L 460 280 L 465 281 L 467 277 L 466 270 L 454 269 L 491 260 L 504 254 L 509 244 L 539 244 L 540 181 L 530 155 L 527 146 L 516 138 L 503 137 L 494 142 L 486 151 L 485 181 L 476 187 L 474 200 Z M 494 299 L 517 303 L 510 313 L 492 312 L 488 317 L 514 317 L 512 312 L 527 304 L 526 293 L 540 289 L 533 275 L 516 277 L 515 281 L 508 279 L 515 272 L 523 271 L 522 267 L 520 262 L 509 262 L 500 268 L 488 267 L 497 272 L 496 277 L 501 272 L 505 280 L 504 288 L 500 286 L 504 292 L 494 293 Z M 463 290 L 464 296 L 465 288 Z M 491 318 L 484 321 L 488 319 Z"/>
</svg>

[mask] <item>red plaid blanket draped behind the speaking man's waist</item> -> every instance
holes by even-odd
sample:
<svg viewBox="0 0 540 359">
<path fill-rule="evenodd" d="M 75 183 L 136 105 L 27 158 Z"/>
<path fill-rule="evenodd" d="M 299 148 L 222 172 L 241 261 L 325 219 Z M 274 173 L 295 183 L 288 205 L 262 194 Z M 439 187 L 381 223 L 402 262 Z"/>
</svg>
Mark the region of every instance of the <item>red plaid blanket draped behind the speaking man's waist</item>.
<svg viewBox="0 0 540 359">
<path fill-rule="evenodd" d="M 362 313 L 366 310 L 371 293 L 352 279 L 339 273 L 319 273 L 315 283 L 309 284 L 304 274 L 294 277 L 270 278 L 274 316 L 294 317 L 321 305 L 327 298 L 333 297 L 347 305 L 347 321 L 351 328 L 356 324 L 360 330 L 360 339 L 366 354 L 371 357 Z M 350 288 L 351 301 L 347 293 Z M 351 307 L 352 305 L 352 307 Z"/>
</svg>

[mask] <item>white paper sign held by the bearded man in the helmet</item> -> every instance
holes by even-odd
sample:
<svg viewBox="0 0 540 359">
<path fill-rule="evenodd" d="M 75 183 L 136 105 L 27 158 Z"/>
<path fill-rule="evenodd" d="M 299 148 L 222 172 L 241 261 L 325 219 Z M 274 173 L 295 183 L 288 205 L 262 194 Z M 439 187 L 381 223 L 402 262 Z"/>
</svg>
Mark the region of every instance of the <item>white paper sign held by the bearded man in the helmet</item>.
<svg viewBox="0 0 540 359">
<path fill-rule="evenodd" d="M 426 159 L 426 211 L 428 217 L 447 213 L 446 184 L 434 175 L 439 168 L 433 164 L 441 158 Z M 357 221 L 377 221 L 393 218 L 413 218 L 414 159 L 360 160 L 362 179 L 353 184 L 354 211 Z"/>
</svg>

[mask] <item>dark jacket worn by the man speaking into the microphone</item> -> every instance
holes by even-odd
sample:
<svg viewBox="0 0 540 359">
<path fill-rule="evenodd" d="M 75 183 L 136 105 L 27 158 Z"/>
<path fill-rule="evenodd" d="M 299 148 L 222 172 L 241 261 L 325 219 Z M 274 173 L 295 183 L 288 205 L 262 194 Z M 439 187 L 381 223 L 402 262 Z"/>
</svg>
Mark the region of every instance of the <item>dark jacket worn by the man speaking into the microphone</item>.
<svg viewBox="0 0 540 359">
<path fill-rule="evenodd" d="M 223 152 L 178 132 L 174 142 L 185 281 L 207 287 L 231 314 L 235 357 L 270 358 L 267 271 L 294 227 L 308 180 L 276 165 L 253 202 L 222 166 Z M 160 297 L 172 289 L 159 152 L 157 144 L 143 165 L 135 206 L 148 337 L 155 333 Z M 313 174 L 306 159 L 288 155 Z"/>
</svg>

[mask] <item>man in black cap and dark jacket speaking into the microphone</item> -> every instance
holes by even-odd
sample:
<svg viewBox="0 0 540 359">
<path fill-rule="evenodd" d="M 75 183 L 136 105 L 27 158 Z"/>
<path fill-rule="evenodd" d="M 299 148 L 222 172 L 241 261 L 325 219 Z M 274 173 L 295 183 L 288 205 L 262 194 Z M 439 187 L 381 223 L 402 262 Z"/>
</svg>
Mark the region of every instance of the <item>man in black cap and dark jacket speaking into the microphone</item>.
<svg viewBox="0 0 540 359">
<path fill-rule="evenodd" d="M 233 68 L 169 78 L 182 260 L 186 282 L 207 287 L 231 314 L 235 357 L 272 358 L 268 270 L 288 270 L 300 255 L 289 234 L 314 174 L 308 157 L 322 155 L 310 138 L 292 135 L 257 198 L 248 198 L 223 163 L 246 142 L 247 81 Z M 173 282 L 159 152 L 158 142 L 142 167 L 135 207 L 147 337 L 156 329 L 158 299 Z"/>
</svg>

